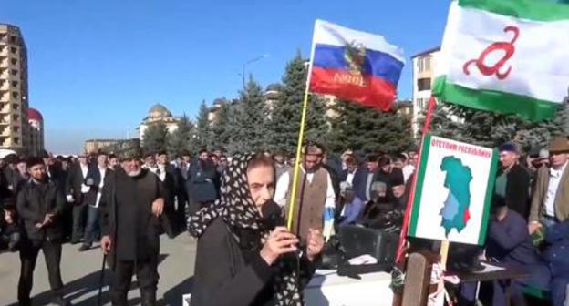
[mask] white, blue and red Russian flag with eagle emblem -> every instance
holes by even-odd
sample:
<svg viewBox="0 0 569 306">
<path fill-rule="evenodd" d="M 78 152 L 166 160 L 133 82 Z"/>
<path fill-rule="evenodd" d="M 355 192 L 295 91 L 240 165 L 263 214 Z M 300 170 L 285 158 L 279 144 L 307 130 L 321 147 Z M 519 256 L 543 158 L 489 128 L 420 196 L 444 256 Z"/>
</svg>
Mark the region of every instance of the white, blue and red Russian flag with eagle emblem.
<svg viewBox="0 0 569 306">
<path fill-rule="evenodd" d="M 402 50 L 383 36 L 316 20 L 312 92 L 388 111 L 404 65 Z"/>
</svg>

